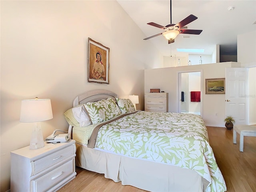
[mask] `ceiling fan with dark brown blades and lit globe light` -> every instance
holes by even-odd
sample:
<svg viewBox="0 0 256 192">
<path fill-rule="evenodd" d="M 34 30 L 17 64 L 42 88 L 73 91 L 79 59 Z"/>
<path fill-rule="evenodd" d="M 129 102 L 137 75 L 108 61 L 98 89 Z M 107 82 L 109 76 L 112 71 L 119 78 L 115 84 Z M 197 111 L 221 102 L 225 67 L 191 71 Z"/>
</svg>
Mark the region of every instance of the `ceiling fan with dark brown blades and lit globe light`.
<svg viewBox="0 0 256 192">
<path fill-rule="evenodd" d="M 150 36 L 148 38 L 145 38 L 144 40 L 148 40 L 150 38 L 159 36 L 159 35 L 164 35 L 166 39 L 168 39 L 168 44 L 174 42 L 174 38 L 180 33 L 182 34 L 194 34 L 194 35 L 199 35 L 203 30 L 193 30 L 193 29 L 187 29 L 185 25 L 191 23 L 192 21 L 196 20 L 197 17 L 194 15 L 190 15 L 186 17 L 184 20 L 180 21 L 177 24 L 172 24 L 172 0 L 170 0 L 170 23 L 166 26 L 162 26 L 159 24 L 156 24 L 154 22 L 147 23 L 148 25 L 152 25 L 154 27 L 158 27 L 164 30 L 162 33 L 158 33 L 156 35 Z"/>
</svg>

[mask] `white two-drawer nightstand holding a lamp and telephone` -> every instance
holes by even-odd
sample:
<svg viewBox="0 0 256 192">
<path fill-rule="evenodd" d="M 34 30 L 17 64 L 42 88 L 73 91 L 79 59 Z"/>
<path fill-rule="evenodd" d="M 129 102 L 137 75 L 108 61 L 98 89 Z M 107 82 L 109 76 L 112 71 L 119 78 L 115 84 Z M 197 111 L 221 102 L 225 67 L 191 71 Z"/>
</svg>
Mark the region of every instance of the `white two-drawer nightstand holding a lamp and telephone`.
<svg viewBox="0 0 256 192">
<path fill-rule="evenodd" d="M 11 192 L 56 191 L 76 176 L 75 140 L 11 152 Z"/>
</svg>

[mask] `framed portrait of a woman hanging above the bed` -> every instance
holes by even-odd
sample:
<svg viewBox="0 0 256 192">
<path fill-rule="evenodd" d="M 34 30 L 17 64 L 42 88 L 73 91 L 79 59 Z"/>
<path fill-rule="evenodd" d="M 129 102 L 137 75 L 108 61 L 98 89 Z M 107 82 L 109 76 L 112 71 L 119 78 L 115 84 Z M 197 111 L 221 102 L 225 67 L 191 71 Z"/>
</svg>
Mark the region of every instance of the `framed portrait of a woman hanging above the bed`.
<svg viewBox="0 0 256 192">
<path fill-rule="evenodd" d="M 88 38 L 88 82 L 109 84 L 109 51 L 108 47 Z"/>
</svg>

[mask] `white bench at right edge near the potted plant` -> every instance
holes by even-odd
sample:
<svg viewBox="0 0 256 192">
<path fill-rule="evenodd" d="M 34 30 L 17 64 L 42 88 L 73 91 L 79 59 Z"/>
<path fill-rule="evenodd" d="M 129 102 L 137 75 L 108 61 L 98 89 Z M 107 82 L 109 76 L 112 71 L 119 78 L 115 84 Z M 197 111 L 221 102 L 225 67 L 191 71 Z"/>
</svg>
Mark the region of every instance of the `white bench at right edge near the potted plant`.
<svg viewBox="0 0 256 192">
<path fill-rule="evenodd" d="M 233 143 L 236 144 L 236 132 L 240 134 L 239 150 L 244 152 L 244 136 L 256 137 L 256 125 L 234 125 Z"/>
</svg>

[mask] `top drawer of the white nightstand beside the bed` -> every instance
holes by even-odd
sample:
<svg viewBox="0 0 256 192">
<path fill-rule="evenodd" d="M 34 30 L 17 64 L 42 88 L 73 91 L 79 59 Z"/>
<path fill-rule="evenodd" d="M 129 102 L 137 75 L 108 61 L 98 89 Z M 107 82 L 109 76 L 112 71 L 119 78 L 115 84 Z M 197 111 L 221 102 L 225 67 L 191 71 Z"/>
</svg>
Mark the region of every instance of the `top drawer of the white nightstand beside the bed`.
<svg viewBox="0 0 256 192">
<path fill-rule="evenodd" d="M 52 153 L 48 156 L 45 156 L 43 158 L 40 158 L 38 160 L 35 160 L 34 162 L 31 162 L 32 164 L 32 175 L 38 174 L 42 170 L 45 170 L 46 168 L 68 158 L 69 156 L 72 156 L 75 151 L 74 151 L 74 146 L 68 146 L 62 150 L 59 150 L 55 153 Z M 34 168 L 33 168 L 34 166 Z M 34 172 L 33 172 L 34 170 Z"/>
</svg>

